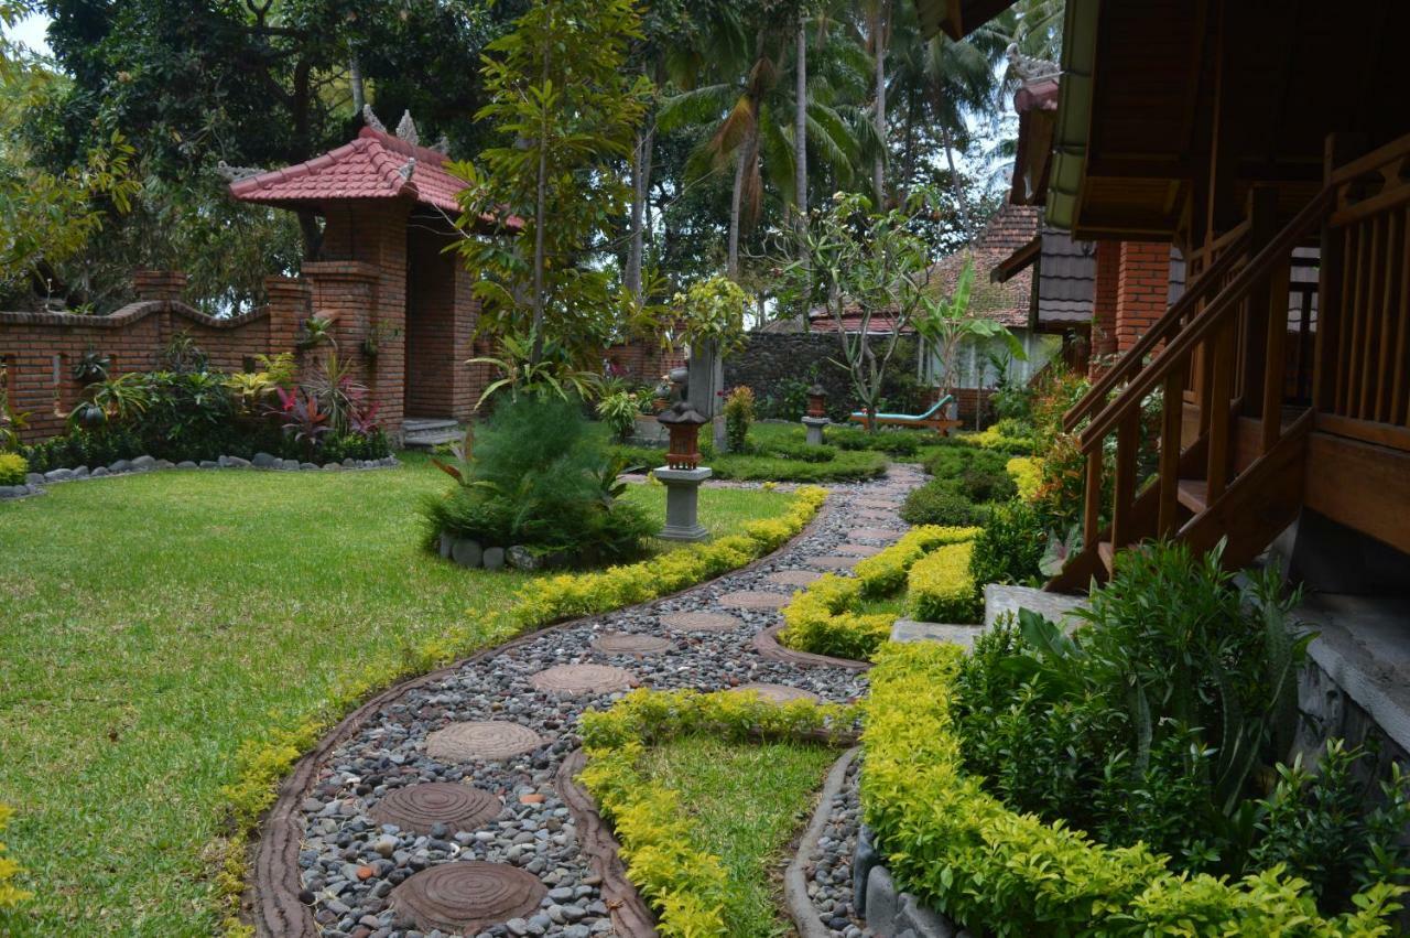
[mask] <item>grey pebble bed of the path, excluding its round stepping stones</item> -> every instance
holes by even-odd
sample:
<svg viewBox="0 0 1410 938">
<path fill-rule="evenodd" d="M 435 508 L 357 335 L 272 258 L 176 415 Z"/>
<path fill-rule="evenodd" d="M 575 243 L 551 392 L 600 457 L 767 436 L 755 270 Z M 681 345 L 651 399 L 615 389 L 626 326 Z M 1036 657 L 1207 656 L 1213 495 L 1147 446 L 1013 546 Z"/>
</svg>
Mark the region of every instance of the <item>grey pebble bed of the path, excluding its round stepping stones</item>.
<svg viewBox="0 0 1410 938">
<path fill-rule="evenodd" d="M 891 471 L 888 489 L 922 480 L 914 467 L 894 465 Z M 560 666 L 598 664 L 625 669 L 640 684 L 663 690 L 764 684 L 826 701 L 860 698 L 864 678 L 850 667 L 802 666 L 759 650 L 759 633 L 781 621 L 777 609 L 726 611 L 722 599 L 730 592 L 787 598 L 792 587 L 773 583 L 770 575 L 835 554 L 849 532 L 863 526 L 853 516 L 854 502 L 877 485 L 833 485 L 828 506 L 808 529 L 749 567 L 674 597 L 526 635 L 360 708 L 281 788 L 257 852 L 251 911 L 258 931 L 326 938 L 415 935 L 415 920 L 391 903 L 392 891 L 423 870 L 477 860 L 532 873 L 547 891 L 532 914 L 488 925 L 474 938 L 650 934 L 632 925 L 644 906 L 639 897 L 633 904 L 634 890 L 620 877 L 611 832 L 584 820 L 582 804 L 575 804 L 581 791 L 575 794 L 560 781 L 565 763 L 571 766 L 568 760 L 581 756 L 575 735 L 581 712 L 609 705 L 622 691 L 567 697 L 536 688 L 534 676 Z M 897 528 L 902 528 L 900 522 Z M 671 616 L 688 614 L 732 615 L 739 625 L 723 632 L 668 625 Z M 594 645 L 623 633 L 668 639 L 671 647 L 642 657 Z M 433 732 L 468 721 L 509 721 L 544 742 L 502 762 L 444 762 L 427 753 Z M 371 817 L 381 800 L 423 783 L 474 786 L 503 798 L 503 810 L 479 829 L 455 831 L 441 824 L 429 834 L 379 825 Z M 856 930 L 830 934 L 862 934 L 849 918 L 849 904 L 830 911 L 830 921 L 846 918 Z"/>
</svg>

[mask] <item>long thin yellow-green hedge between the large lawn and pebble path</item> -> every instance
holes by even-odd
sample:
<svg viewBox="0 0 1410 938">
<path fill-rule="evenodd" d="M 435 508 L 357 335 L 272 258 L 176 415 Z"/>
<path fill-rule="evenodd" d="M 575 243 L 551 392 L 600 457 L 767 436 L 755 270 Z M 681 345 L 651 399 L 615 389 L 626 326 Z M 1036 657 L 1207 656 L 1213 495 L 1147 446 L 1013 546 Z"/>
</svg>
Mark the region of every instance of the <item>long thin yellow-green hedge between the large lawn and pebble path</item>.
<svg viewBox="0 0 1410 938">
<path fill-rule="evenodd" d="M 217 843 L 214 851 L 223 858 L 216 879 L 220 901 L 227 913 L 226 931 L 228 934 L 250 931 L 237 918 L 245 882 L 245 848 L 261 814 L 274 803 L 279 780 L 361 701 L 399 680 L 443 667 L 520 632 L 646 602 L 750 563 L 801 532 L 826 498 L 828 489 L 804 487 L 794 494 L 792 505 L 781 518 L 750 522 L 744 526 L 743 535 L 681 547 L 642 563 L 611 567 L 599 573 L 564 574 L 530 581 L 516 594 L 515 602 L 508 609 L 488 622 L 450 628 L 439 640 L 406 649 L 400 660 L 375 663 L 361 676 L 343 681 L 299 725 L 274 728 L 257 739 L 247 741 L 237 757 L 240 772 L 235 781 L 221 788 L 231 834 Z"/>
</svg>

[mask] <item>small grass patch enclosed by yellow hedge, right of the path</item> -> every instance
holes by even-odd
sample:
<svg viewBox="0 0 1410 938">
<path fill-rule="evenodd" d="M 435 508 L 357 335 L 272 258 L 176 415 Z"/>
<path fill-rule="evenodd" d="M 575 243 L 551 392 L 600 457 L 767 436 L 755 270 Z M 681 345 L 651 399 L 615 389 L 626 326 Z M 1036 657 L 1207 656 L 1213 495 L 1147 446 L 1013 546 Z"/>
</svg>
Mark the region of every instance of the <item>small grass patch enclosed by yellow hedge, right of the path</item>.
<svg viewBox="0 0 1410 938">
<path fill-rule="evenodd" d="M 819 745 L 737 746 L 711 736 L 682 736 L 647 750 L 649 777 L 680 791 L 695 820 L 694 846 L 723 860 L 725 924 L 733 938 L 794 934 L 781 911 L 781 869 L 836 759 L 836 750 Z"/>
</svg>

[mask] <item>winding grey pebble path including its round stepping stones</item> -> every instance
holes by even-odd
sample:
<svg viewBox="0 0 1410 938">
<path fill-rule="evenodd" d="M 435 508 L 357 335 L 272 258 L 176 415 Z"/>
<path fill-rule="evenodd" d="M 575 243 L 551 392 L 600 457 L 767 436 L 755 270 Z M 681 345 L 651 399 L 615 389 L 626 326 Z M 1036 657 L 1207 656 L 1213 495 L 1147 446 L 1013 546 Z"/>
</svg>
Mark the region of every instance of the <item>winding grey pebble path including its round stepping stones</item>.
<svg viewBox="0 0 1410 938">
<path fill-rule="evenodd" d="M 895 540 L 895 508 L 921 478 L 893 465 L 883 480 L 833 485 L 811 532 L 747 571 L 547 632 L 392 698 L 331 750 L 302 804 L 300 899 L 320 934 L 613 934 L 553 786 L 578 748 L 580 714 L 630 687 L 859 698 L 857 673 L 768 660 L 752 640 L 780 622 L 797 584 Z M 818 866 L 829 882 L 816 901 L 833 934 L 856 938 L 845 867 Z"/>
</svg>

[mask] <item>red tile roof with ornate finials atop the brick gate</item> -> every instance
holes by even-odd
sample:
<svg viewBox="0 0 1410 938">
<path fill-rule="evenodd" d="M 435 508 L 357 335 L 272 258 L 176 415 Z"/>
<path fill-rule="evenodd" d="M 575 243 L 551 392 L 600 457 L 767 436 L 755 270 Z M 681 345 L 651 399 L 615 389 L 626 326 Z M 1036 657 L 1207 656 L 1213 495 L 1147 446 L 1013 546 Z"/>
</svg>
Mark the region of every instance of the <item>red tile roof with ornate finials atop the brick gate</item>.
<svg viewBox="0 0 1410 938">
<path fill-rule="evenodd" d="M 416 159 L 410 178 L 402 169 Z M 357 140 L 321 157 L 230 183 L 243 202 L 292 207 L 336 199 L 395 199 L 409 196 L 443 212 L 460 214 L 455 195 L 465 182 L 451 173 L 446 154 L 417 147 L 392 134 L 364 127 Z"/>
</svg>

